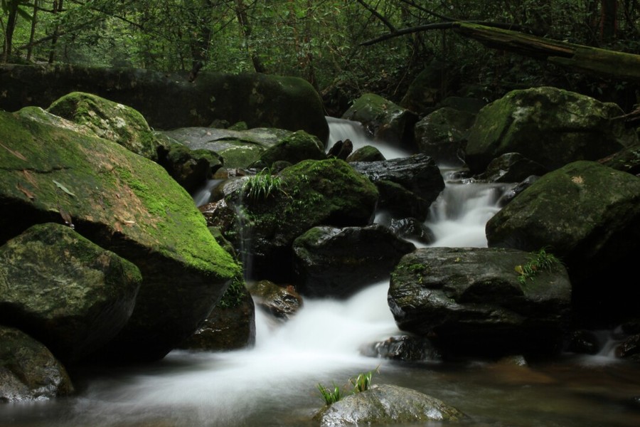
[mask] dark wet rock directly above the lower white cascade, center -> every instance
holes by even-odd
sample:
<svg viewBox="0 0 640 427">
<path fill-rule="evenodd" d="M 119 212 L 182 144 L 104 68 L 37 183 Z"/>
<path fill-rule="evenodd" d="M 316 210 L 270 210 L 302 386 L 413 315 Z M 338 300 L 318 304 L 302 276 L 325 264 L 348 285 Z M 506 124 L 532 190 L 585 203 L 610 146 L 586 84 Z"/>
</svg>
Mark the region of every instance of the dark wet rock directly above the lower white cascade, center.
<svg viewBox="0 0 640 427">
<path fill-rule="evenodd" d="M 299 292 L 311 297 L 348 297 L 388 280 L 413 243 L 380 224 L 311 228 L 294 240 L 294 273 Z"/>
</svg>

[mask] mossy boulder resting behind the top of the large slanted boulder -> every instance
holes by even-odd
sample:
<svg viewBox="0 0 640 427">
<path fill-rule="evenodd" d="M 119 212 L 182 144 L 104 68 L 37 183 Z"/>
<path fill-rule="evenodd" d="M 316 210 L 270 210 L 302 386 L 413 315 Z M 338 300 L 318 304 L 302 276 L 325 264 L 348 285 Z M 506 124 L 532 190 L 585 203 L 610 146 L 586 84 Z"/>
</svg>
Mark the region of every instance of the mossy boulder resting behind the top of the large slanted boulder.
<svg viewBox="0 0 640 427">
<path fill-rule="evenodd" d="M 72 92 L 55 100 L 47 112 L 92 130 L 147 159 L 156 159 L 154 133 L 144 117 L 132 107 L 91 93 Z"/>
</svg>

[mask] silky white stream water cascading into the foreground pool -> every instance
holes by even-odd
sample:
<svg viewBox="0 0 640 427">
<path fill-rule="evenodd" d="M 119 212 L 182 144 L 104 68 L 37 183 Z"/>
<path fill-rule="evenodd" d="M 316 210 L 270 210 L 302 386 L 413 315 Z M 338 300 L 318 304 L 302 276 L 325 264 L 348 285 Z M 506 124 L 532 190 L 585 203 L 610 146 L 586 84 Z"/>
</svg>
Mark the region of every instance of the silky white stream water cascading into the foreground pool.
<svg viewBox="0 0 640 427">
<path fill-rule="evenodd" d="M 345 130 L 357 124 L 330 124 L 332 131 L 347 132 L 337 138 L 349 137 L 354 148 L 366 143 Z M 380 151 L 388 159 L 403 155 Z M 447 182 L 427 220 L 437 236 L 433 246 L 486 247 L 484 225 L 504 190 Z M 602 354 L 563 354 L 527 367 L 361 356 L 361 346 L 400 334 L 387 290 L 388 282 L 372 283 L 346 301 L 305 300 L 287 323 L 257 310 L 252 349 L 174 351 L 151 365 L 74 371 L 76 396 L 1 404 L 0 426 L 311 427 L 323 404 L 319 383 L 346 386 L 350 377 L 374 369 L 373 384 L 409 387 L 456 406 L 469 416 L 462 426 L 640 426 L 640 365 L 612 357 L 616 343 L 609 331 L 599 331 Z"/>
</svg>

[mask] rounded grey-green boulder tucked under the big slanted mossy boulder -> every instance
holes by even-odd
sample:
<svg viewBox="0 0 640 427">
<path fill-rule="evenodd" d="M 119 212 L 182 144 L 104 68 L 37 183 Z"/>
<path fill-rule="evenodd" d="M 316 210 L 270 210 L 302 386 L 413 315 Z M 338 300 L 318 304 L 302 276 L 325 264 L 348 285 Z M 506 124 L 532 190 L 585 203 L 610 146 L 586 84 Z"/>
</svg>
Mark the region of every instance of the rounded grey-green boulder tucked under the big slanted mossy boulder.
<svg viewBox="0 0 640 427">
<path fill-rule="evenodd" d="M 38 224 L 0 247 L 0 322 L 77 362 L 122 330 L 142 275 L 68 226 Z"/>
</svg>

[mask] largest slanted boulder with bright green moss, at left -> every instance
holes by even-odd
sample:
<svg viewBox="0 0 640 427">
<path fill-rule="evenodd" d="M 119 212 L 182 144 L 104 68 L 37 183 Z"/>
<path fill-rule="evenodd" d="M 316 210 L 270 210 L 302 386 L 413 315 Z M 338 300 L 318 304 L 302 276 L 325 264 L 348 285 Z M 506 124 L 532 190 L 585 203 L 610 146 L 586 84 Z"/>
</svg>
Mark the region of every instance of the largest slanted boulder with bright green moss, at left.
<svg viewBox="0 0 640 427">
<path fill-rule="evenodd" d="M 0 112 L 0 242 L 73 223 L 142 272 L 112 358 L 159 359 L 198 327 L 238 265 L 191 196 L 158 164 L 98 137 Z"/>
</svg>

